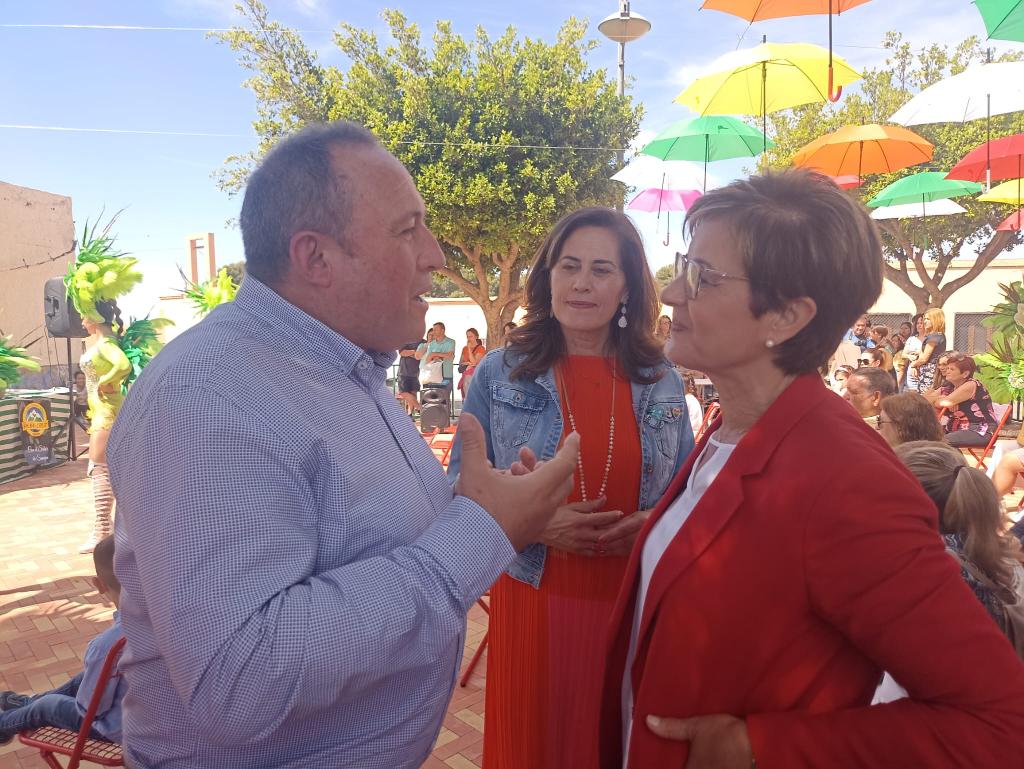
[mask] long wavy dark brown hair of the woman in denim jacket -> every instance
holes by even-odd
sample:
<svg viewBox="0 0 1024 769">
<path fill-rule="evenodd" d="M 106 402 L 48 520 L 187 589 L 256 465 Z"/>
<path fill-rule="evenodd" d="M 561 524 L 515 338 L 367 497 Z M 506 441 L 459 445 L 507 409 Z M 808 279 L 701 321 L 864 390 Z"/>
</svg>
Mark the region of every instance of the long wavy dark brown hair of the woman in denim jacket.
<svg viewBox="0 0 1024 769">
<path fill-rule="evenodd" d="M 552 227 L 534 257 L 526 279 L 526 314 L 509 332 L 505 347 L 523 355 L 512 370 L 512 379 L 536 379 L 566 355 L 565 337 L 551 310 L 551 270 L 561 256 L 565 241 L 583 227 L 601 227 L 618 241 L 618 261 L 626 277 L 626 317 L 618 328 L 618 313 L 608 322 L 608 353 L 614 354 L 623 373 L 632 382 L 649 384 L 660 379 L 656 369 L 665 360 L 662 342 L 654 336 L 654 318 L 660 310 L 654 276 L 647 266 L 643 241 L 625 214 L 597 206 L 566 214 Z"/>
</svg>

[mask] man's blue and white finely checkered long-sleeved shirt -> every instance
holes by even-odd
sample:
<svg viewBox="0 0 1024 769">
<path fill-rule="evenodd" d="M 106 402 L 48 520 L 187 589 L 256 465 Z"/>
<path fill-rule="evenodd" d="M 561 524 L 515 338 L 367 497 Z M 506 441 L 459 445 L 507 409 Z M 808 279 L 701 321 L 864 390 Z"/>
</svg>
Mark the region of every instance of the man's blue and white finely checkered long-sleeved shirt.
<svg viewBox="0 0 1024 769">
<path fill-rule="evenodd" d="M 109 446 L 133 767 L 418 767 L 515 556 L 368 353 L 247 277 Z"/>
</svg>

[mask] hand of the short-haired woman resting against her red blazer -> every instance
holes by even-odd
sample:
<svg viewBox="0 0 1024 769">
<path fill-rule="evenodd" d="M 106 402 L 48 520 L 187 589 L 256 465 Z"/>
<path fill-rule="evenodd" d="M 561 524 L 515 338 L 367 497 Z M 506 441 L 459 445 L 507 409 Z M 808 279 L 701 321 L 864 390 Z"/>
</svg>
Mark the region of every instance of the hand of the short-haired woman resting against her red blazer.
<svg viewBox="0 0 1024 769">
<path fill-rule="evenodd" d="M 754 763 L 746 723 L 732 716 L 648 716 L 647 728 L 666 739 L 689 741 L 685 769 L 751 769 Z"/>
</svg>

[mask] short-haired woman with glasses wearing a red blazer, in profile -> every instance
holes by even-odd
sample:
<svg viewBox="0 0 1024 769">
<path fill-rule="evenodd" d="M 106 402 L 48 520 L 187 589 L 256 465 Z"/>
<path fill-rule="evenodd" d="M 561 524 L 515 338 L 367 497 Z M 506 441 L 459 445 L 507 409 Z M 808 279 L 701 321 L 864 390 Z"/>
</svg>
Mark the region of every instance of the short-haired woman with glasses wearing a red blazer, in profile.
<svg viewBox="0 0 1024 769">
<path fill-rule="evenodd" d="M 882 248 L 824 177 L 709 193 L 663 301 L 722 419 L 641 531 L 611 621 L 602 767 L 1024 766 L 1024 666 L 937 514 L 816 374 Z M 883 671 L 909 692 L 871 708 Z"/>
</svg>

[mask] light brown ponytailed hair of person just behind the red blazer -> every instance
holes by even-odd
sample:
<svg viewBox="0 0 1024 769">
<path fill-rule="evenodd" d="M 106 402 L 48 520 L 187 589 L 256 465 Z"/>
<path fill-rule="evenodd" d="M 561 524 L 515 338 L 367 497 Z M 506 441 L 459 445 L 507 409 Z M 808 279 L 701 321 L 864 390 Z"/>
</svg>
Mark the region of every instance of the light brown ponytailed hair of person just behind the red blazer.
<svg viewBox="0 0 1024 769">
<path fill-rule="evenodd" d="M 1006 516 L 988 476 L 968 467 L 964 455 L 945 443 L 915 440 L 895 451 L 939 509 L 942 533 L 961 535 L 967 557 L 1012 592 L 1013 563 L 1020 546 L 1004 533 Z"/>
</svg>

